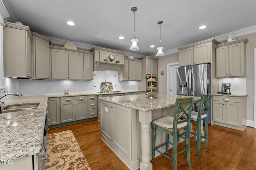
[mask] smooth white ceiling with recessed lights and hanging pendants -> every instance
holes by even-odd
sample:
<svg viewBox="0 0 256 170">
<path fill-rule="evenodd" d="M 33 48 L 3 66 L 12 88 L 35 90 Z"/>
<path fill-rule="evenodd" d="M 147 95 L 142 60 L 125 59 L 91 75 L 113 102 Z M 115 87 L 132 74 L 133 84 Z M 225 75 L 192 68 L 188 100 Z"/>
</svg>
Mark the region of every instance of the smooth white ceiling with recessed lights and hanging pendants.
<svg viewBox="0 0 256 170">
<path fill-rule="evenodd" d="M 256 26 L 256 0 L 2 0 L 10 21 L 44 36 L 155 56 L 236 30 Z M 135 36 L 138 51 L 130 51 Z M 76 25 L 69 26 L 67 21 Z M 201 25 L 207 28 L 199 30 Z M 255 30 L 256 32 L 256 30 Z M 124 36 L 124 40 L 119 40 Z M 228 38 L 228 36 L 226 37 Z M 155 45 L 150 48 L 150 45 Z"/>
</svg>

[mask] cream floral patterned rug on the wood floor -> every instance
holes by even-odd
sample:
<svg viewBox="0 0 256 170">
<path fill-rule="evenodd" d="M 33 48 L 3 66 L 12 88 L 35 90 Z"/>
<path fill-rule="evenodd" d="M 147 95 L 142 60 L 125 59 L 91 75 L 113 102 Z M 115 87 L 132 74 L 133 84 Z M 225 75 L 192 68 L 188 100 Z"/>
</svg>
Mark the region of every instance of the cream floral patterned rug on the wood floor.
<svg viewBox="0 0 256 170">
<path fill-rule="evenodd" d="M 90 170 L 72 130 L 48 134 L 46 170 Z"/>
</svg>

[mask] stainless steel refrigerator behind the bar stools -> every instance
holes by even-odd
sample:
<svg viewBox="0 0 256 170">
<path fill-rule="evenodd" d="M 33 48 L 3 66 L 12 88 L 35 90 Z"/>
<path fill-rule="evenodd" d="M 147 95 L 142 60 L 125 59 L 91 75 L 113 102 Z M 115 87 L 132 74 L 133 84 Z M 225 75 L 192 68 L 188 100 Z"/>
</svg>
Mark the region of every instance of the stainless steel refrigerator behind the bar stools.
<svg viewBox="0 0 256 170">
<path fill-rule="evenodd" d="M 190 65 L 177 68 L 177 95 L 201 96 L 211 93 L 210 64 Z M 200 101 L 194 103 L 193 111 L 198 111 Z M 211 122 L 209 111 L 209 124 Z"/>
</svg>

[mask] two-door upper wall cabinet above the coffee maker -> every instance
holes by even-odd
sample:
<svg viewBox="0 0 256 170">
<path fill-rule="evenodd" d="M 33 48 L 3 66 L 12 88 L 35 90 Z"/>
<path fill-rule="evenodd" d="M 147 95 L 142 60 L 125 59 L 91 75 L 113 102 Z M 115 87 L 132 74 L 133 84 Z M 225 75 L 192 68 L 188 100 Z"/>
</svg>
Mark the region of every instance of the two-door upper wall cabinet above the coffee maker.
<svg viewBox="0 0 256 170">
<path fill-rule="evenodd" d="M 216 77 L 246 76 L 247 39 L 216 45 Z"/>
</svg>

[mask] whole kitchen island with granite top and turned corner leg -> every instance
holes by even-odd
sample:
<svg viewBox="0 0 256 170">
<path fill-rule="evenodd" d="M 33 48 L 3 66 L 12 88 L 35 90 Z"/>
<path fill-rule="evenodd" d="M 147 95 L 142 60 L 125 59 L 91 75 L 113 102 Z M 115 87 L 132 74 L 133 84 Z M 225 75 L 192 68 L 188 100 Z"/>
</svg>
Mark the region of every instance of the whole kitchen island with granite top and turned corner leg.
<svg viewBox="0 0 256 170">
<path fill-rule="evenodd" d="M 158 94 L 154 99 L 146 95 L 99 98 L 102 140 L 128 168 L 151 170 L 151 122 L 160 117 L 174 116 L 176 99 L 186 97 Z M 194 99 L 200 101 L 200 97 Z M 165 135 L 159 132 L 156 145 L 164 140 Z"/>
</svg>

